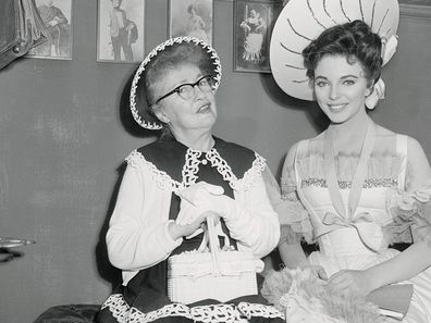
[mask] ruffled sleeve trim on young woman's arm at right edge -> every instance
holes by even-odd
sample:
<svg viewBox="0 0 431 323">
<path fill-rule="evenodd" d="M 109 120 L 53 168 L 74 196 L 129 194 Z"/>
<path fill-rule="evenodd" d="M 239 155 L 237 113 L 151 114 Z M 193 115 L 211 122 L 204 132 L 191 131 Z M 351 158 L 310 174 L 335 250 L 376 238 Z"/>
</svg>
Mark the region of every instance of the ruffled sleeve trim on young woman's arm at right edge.
<svg viewBox="0 0 431 323">
<path fill-rule="evenodd" d="M 390 189 L 386 210 L 394 221 L 385 229 L 392 232 L 395 243 L 411 228 L 414 241 L 423 240 L 431 248 L 431 178 L 415 191 Z"/>
</svg>

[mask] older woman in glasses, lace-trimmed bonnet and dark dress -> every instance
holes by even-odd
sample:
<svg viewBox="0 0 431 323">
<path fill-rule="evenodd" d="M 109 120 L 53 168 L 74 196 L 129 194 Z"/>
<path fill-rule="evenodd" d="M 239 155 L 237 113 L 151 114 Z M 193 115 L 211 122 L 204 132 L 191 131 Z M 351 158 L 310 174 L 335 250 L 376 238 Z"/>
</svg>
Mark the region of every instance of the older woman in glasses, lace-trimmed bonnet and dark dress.
<svg viewBox="0 0 431 323">
<path fill-rule="evenodd" d="M 102 306 L 99 322 L 282 322 L 259 295 L 206 300 L 217 287 L 208 285 L 199 302 L 185 303 L 172 302 L 168 293 L 169 259 L 199 248 L 208 214 L 220 219 L 224 250 L 259 259 L 280 238 L 263 158 L 212 135 L 220 77 L 216 51 L 190 37 L 159 45 L 135 74 L 132 114 L 161 136 L 126 159 L 107 234 L 109 259 L 122 270 L 123 284 Z"/>
</svg>

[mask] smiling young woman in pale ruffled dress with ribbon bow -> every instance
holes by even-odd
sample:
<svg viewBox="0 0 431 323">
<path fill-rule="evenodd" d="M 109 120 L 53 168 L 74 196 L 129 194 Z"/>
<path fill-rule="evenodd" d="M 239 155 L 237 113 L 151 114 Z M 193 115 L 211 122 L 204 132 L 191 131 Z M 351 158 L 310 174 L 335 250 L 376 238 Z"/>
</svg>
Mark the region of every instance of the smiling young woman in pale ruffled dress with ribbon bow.
<svg viewBox="0 0 431 323">
<path fill-rule="evenodd" d="M 390 4 L 377 1 L 375 8 L 383 2 Z M 327 8 L 334 10 L 336 3 L 328 1 Z M 371 12 L 367 1 L 361 3 L 362 13 Z M 385 24 L 379 22 L 380 27 Z M 417 140 L 375 124 L 367 113 L 381 89 L 386 41 L 364 21 L 352 18 L 318 34 L 301 51 L 309 98 L 317 100 L 330 125 L 287 153 L 282 197 L 291 207 L 280 212 L 284 226 L 279 248 L 287 266 L 311 265 L 338 289 L 367 295 L 387 284 L 412 283 L 404 322 L 430 322 L 430 164 Z M 299 86 L 282 87 L 295 96 Z M 301 238 L 317 241 L 319 251 L 306 258 Z M 390 248 L 396 241 L 412 244 L 399 252 Z"/>
</svg>

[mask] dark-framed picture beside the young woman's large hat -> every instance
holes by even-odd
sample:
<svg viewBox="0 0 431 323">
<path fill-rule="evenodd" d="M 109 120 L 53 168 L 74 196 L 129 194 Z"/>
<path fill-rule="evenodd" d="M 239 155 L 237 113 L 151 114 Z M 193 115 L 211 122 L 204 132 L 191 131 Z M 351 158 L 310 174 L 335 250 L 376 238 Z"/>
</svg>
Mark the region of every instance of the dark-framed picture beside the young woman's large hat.
<svg viewBox="0 0 431 323">
<path fill-rule="evenodd" d="M 271 73 L 268 52 L 269 42 L 273 25 L 282 9 L 282 1 L 235 1 L 235 72 Z"/>
</svg>

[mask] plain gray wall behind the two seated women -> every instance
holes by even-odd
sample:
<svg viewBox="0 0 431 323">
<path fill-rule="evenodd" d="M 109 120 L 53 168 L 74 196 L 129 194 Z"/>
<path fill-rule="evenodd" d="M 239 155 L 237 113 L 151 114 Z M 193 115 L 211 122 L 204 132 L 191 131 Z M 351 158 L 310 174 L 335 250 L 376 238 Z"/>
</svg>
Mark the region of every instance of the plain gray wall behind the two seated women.
<svg viewBox="0 0 431 323">
<path fill-rule="evenodd" d="M 74 2 L 72 61 L 22 59 L 0 72 L 0 236 L 35 239 L 0 264 L 0 318 L 32 322 L 54 305 L 101 303 L 116 277 L 102 236 L 123 159 L 152 137 L 121 112 L 134 64 L 96 62 L 97 1 Z M 148 0 L 146 51 L 167 37 L 167 0 Z M 298 139 L 317 134 L 316 107 L 270 74 L 233 73 L 233 2 L 214 1 L 223 66 L 216 134 L 256 149 L 274 173 Z M 404 16 L 374 119 L 431 153 L 431 26 Z M 100 251 L 100 252 L 97 252 Z M 5 293 L 7 291 L 7 293 Z"/>
</svg>

